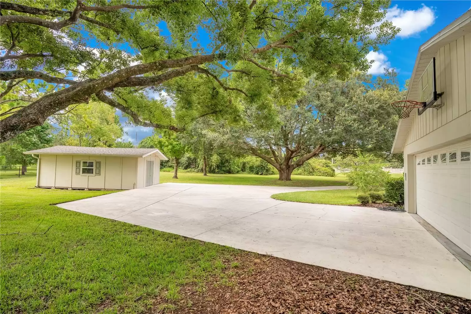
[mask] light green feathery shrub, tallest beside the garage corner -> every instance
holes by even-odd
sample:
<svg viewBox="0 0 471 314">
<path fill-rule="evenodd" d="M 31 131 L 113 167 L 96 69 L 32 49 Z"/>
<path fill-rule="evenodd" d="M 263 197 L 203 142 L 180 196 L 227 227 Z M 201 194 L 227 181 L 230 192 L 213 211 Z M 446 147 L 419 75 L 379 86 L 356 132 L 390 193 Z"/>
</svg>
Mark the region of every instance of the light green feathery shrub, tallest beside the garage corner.
<svg viewBox="0 0 471 314">
<path fill-rule="evenodd" d="M 390 174 L 382 169 L 384 165 L 381 159 L 370 154 L 350 156 L 339 162 L 341 169 L 349 171 L 345 174 L 348 184 L 363 193 L 383 190 L 390 177 Z"/>
</svg>

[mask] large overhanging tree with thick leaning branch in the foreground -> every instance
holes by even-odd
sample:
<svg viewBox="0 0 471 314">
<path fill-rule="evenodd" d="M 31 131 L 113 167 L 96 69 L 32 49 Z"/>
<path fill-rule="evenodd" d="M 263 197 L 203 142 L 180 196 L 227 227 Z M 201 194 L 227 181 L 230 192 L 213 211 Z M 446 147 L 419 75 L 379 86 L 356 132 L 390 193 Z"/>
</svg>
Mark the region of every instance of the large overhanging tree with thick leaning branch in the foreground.
<svg viewBox="0 0 471 314">
<path fill-rule="evenodd" d="M 122 110 L 134 124 L 179 130 L 121 100 L 195 73 L 211 80 L 205 91 L 215 99 L 226 94 L 229 105 L 241 98 L 260 100 L 262 82 L 292 80 L 287 68 L 323 77 L 365 71 L 365 55 L 398 32 L 392 23 L 381 22 L 389 5 L 373 0 L 2 1 L 0 40 L 6 52 L 0 80 L 8 88 L 1 96 L 24 80 L 65 88 L 5 115 L 0 141 L 90 99 Z M 170 36 L 161 35 L 161 22 Z M 206 47 L 194 44 L 201 30 L 210 39 Z M 275 68 L 279 60 L 285 68 Z M 187 105 L 184 110 L 193 110 Z M 149 108 L 154 109 L 162 107 Z"/>
</svg>

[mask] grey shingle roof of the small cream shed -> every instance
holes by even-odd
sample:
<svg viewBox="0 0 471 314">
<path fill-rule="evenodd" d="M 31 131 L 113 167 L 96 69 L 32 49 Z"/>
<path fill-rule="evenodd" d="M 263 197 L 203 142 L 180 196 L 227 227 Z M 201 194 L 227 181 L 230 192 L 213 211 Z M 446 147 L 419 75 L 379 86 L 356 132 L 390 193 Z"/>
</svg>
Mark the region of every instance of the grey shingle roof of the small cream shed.
<svg viewBox="0 0 471 314">
<path fill-rule="evenodd" d="M 44 149 L 25 151 L 24 154 L 76 154 L 76 155 L 113 155 L 146 157 L 156 154 L 161 159 L 167 160 L 158 149 L 134 149 L 134 148 L 108 148 L 108 147 L 81 147 L 81 146 L 53 146 Z"/>
</svg>

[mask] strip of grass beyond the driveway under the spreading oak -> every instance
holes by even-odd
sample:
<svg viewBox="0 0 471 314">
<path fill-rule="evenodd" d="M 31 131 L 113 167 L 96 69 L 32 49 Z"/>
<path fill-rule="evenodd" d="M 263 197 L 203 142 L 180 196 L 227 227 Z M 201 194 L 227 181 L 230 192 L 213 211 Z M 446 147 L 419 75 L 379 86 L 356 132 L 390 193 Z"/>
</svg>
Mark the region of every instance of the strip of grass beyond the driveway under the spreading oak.
<svg viewBox="0 0 471 314">
<path fill-rule="evenodd" d="M 278 175 L 256 174 L 208 174 L 179 173 L 178 179 L 172 179 L 173 172 L 161 172 L 160 182 L 177 183 L 206 183 L 206 184 L 234 184 L 234 185 L 271 185 L 271 186 L 332 186 L 347 185 L 345 176 L 336 177 L 311 177 L 305 175 L 292 175 L 292 181 L 279 181 Z"/>
</svg>

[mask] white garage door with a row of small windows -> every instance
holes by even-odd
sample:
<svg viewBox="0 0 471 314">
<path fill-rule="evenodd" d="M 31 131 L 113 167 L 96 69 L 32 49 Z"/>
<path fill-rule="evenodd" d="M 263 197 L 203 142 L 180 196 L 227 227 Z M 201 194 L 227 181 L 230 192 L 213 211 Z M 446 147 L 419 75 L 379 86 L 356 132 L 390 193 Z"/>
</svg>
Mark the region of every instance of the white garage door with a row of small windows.
<svg viewBox="0 0 471 314">
<path fill-rule="evenodd" d="M 471 141 L 415 156 L 417 214 L 471 255 Z"/>
</svg>

